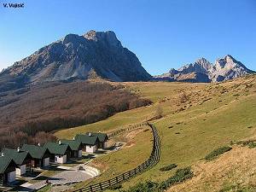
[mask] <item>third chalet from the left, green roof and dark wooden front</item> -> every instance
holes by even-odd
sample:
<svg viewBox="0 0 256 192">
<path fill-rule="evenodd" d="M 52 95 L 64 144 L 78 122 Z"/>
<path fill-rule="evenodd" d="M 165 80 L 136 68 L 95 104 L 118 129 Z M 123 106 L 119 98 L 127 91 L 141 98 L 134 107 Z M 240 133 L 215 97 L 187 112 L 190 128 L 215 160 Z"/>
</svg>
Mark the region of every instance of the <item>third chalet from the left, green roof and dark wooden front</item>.
<svg viewBox="0 0 256 192">
<path fill-rule="evenodd" d="M 24 144 L 21 151 L 26 151 L 32 156 L 31 166 L 32 167 L 44 167 L 49 166 L 49 150 L 47 148 Z"/>
</svg>

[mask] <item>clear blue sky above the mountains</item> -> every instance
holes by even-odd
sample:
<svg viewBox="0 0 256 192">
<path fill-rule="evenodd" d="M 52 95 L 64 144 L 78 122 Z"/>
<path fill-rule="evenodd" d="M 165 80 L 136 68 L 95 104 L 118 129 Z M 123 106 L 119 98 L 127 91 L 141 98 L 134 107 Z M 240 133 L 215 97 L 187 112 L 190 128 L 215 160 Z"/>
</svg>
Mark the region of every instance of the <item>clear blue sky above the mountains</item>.
<svg viewBox="0 0 256 192">
<path fill-rule="evenodd" d="M 0 0 L 0 70 L 90 29 L 114 31 L 151 74 L 227 54 L 256 70 L 255 0 Z"/>
</svg>

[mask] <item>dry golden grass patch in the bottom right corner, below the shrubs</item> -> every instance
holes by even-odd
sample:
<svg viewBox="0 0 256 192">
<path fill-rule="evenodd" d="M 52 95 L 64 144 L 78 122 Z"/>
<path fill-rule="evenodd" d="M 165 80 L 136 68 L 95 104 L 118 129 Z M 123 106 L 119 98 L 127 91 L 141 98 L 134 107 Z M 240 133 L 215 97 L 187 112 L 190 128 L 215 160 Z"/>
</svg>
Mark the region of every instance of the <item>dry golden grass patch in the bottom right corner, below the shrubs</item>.
<svg viewBox="0 0 256 192">
<path fill-rule="evenodd" d="M 192 167 L 191 180 L 173 186 L 168 192 L 256 191 L 255 148 L 235 147 L 211 162 L 201 161 Z"/>
</svg>

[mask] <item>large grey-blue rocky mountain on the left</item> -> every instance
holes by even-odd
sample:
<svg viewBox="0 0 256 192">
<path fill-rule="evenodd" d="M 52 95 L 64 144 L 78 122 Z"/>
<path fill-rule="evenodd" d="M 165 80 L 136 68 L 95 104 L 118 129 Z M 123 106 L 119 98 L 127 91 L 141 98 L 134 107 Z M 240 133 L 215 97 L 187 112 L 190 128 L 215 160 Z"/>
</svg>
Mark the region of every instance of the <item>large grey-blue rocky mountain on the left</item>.
<svg viewBox="0 0 256 192">
<path fill-rule="evenodd" d="M 27 83 L 90 79 L 91 75 L 113 81 L 147 81 L 151 76 L 137 56 L 122 46 L 114 32 L 69 34 L 15 62 L 0 74 L 22 77 Z"/>
</svg>

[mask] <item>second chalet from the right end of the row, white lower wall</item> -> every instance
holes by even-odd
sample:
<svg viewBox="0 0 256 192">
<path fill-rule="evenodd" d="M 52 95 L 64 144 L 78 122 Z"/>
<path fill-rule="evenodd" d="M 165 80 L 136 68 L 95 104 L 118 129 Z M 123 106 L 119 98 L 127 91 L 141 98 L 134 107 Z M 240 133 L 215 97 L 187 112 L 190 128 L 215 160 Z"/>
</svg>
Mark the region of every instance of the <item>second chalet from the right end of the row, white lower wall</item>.
<svg viewBox="0 0 256 192">
<path fill-rule="evenodd" d="M 98 147 L 99 138 L 89 135 L 77 135 L 75 140 L 82 143 L 83 149 L 87 153 L 95 153 Z"/>
</svg>

